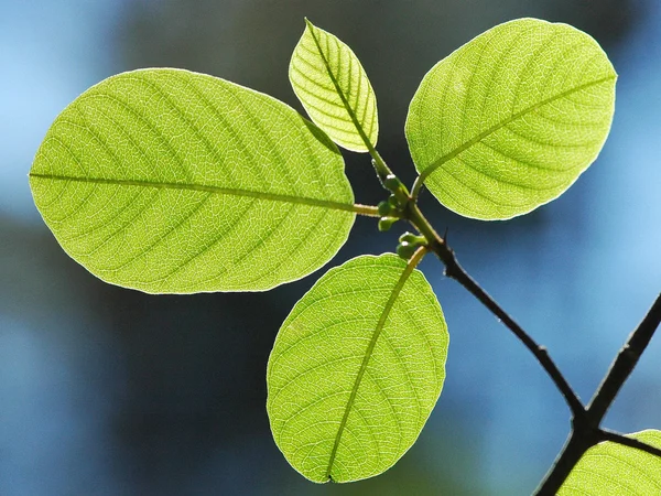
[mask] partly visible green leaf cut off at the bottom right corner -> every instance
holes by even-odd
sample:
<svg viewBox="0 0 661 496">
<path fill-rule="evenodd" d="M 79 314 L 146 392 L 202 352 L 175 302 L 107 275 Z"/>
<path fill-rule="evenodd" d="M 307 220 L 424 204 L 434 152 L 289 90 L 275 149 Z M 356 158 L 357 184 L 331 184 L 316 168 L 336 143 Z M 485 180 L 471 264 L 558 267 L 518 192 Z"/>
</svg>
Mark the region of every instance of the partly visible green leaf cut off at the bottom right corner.
<svg viewBox="0 0 661 496">
<path fill-rule="evenodd" d="M 629 434 L 661 449 L 661 431 Z M 610 441 L 590 448 L 562 488 L 563 496 L 649 496 L 661 494 L 661 459 Z"/>
</svg>

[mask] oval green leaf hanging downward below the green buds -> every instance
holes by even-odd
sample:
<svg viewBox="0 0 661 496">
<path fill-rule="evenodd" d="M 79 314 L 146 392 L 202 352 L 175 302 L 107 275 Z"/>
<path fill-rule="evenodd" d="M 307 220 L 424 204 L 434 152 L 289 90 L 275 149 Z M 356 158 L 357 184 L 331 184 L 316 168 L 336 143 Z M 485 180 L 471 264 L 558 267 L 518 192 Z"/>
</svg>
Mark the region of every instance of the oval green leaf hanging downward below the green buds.
<svg viewBox="0 0 661 496">
<path fill-rule="evenodd" d="M 362 256 L 329 270 L 286 317 L 269 358 L 275 443 L 313 482 L 392 466 L 445 378 L 448 335 L 416 261 Z"/>
</svg>

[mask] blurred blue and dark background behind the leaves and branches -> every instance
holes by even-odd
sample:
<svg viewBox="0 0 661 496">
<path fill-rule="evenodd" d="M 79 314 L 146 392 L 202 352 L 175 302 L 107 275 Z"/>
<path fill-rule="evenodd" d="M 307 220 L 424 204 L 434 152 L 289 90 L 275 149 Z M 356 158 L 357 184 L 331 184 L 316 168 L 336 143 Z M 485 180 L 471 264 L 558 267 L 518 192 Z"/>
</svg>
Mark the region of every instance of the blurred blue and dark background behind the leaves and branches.
<svg viewBox="0 0 661 496">
<path fill-rule="evenodd" d="M 57 114 L 122 71 L 173 66 L 269 93 L 288 82 L 303 17 L 360 57 L 379 148 L 407 183 L 407 109 L 438 60 L 492 25 L 576 25 L 619 80 L 610 138 L 561 198 L 505 223 L 459 218 L 431 195 L 459 261 L 587 400 L 661 289 L 661 2 L 658 0 L 0 0 L 0 494 L 524 495 L 568 432 L 528 352 L 429 257 L 451 331 L 444 391 L 418 443 L 380 477 L 317 486 L 272 441 L 266 364 L 281 322 L 323 273 L 269 293 L 145 295 L 71 260 L 32 204 L 28 171 Z M 357 200 L 383 198 L 346 154 Z M 358 218 L 332 261 L 392 251 L 399 229 Z M 661 336 L 606 419 L 661 428 Z"/>
</svg>

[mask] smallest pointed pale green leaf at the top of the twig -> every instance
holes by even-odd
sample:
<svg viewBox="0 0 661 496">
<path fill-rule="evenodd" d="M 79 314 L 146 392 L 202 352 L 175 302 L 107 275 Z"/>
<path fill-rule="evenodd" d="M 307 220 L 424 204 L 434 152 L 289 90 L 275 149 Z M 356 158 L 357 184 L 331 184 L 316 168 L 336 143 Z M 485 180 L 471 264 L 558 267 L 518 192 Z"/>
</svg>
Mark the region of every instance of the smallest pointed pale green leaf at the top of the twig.
<svg viewBox="0 0 661 496">
<path fill-rule="evenodd" d="M 310 118 L 340 147 L 366 152 L 377 144 L 377 98 L 356 54 L 305 20 L 290 63 L 290 82 Z"/>
</svg>

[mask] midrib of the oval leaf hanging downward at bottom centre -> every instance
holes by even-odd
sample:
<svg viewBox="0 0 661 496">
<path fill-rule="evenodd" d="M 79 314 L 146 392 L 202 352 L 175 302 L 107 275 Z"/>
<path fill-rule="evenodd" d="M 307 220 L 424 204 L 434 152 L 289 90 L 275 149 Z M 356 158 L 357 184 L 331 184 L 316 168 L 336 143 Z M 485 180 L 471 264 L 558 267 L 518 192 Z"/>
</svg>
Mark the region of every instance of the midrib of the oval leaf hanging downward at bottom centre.
<svg viewBox="0 0 661 496">
<path fill-rule="evenodd" d="M 365 357 L 362 358 L 362 363 L 360 364 L 360 368 L 358 369 L 358 375 L 356 376 L 356 380 L 354 381 L 354 388 L 351 389 L 351 395 L 349 396 L 347 406 L 345 408 L 344 416 L 342 418 L 342 421 L 339 422 L 339 428 L 337 429 L 337 434 L 335 435 L 335 442 L 333 444 L 333 450 L 330 451 L 330 456 L 328 459 L 328 467 L 326 468 L 326 478 L 328 481 L 332 481 L 330 472 L 333 470 L 333 464 L 335 463 L 335 456 L 337 455 L 337 449 L 339 448 L 339 441 L 344 433 L 345 427 L 347 425 L 349 413 L 350 413 L 351 409 L 354 408 L 354 402 L 356 401 L 356 396 L 358 395 L 358 389 L 360 387 L 360 382 L 362 381 L 362 376 L 365 375 L 365 371 L 367 370 L 367 364 L 369 363 L 369 359 L 371 358 L 375 346 L 377 345 L 377 341 L 379 339 L 379 336 L 381 335 L 381 331 L 383 330 L 383 326 L 386 325 L 386 321 L 388 320 L 388 315 L 390 315 L 390 311 L 392 310 L 394 302 L 397 301 L 398 296 L 400 295 L 402 288 L 407 283 L 407 280 L 409 279 L 411 273 L 413 273 L 413 270 L 415 270 L 415 267 L 418 267 L 418 263 L 420 263 L 420 260 L 422 260 L 422 257 L 424 257 L 424 255 L 425 255 L 425 250 L 419 250 L 413 256 L 413 258 L 411 258 L 411 260 L 404 268 L 404 271 L 400 276 L 394 288 L 392 289 L 392 293 L 390 294 L 390 298 L 386 302 L 386 306 L 383 306 L 383 312 L 381 312 L 379 322 L 377 323 L 377 326 L 375 327 L 375 332 L 372 333 L 369 345 L 367 346 L 367 349 L 365 351 Z"/>
</svg>

